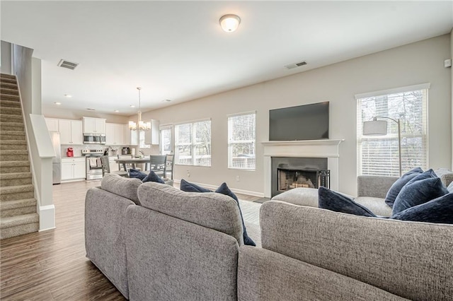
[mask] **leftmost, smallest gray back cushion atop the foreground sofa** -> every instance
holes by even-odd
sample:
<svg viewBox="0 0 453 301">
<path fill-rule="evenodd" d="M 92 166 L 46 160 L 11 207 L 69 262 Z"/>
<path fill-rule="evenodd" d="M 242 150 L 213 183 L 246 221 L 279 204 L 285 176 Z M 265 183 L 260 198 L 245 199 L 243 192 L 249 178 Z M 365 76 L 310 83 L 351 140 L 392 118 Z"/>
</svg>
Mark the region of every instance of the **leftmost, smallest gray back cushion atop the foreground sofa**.
<svg viewBox="0 0 453 301">
<path fill-rule="evenodd" d="M 139 179 L 120 177 L 106 173 L 101 181 L 101 188 L 123 198 L 130 199 L 137 205 L 140 204 L 137 189 L 142 184 Z"/>
</svg>

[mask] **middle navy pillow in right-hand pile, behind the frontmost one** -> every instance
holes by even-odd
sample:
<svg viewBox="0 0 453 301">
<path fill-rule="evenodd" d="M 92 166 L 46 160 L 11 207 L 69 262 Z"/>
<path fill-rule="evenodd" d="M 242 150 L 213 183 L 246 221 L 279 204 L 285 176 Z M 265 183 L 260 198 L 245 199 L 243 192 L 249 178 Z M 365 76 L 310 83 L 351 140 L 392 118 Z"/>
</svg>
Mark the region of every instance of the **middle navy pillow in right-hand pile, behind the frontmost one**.
<svg viewBox="0 0 453 301">
<path fill-rule="evenodd" d="M 391 215 L 394 216 L 407 208 L 426 203 L 445 194 L 448 194 L 448 190 L 438 177 L 408 183 L 396 196 Z"/>
</svg>

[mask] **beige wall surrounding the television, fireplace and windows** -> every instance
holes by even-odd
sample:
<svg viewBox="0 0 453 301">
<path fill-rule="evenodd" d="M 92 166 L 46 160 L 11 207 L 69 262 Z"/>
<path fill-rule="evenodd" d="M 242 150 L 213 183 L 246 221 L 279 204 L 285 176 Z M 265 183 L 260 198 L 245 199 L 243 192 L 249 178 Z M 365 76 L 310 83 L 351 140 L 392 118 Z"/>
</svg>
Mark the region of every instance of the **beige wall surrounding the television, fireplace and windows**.
<svg viewBox="0 0 453 301">
<path fill-rule="evenodd" d="M 263 192 L 263 146 L 268 140 L 268 111 L 313 102 L 329 101 L 331 138 L 340 144 L 340 191 L 357 190 L 356 102 L 357 93 L 431 83 L 429 90 L 429 165 L 452 166 L 452 74 L 443 67 L 450 56 L 450 35 L 377 52 L 293 76 L 231 90 L 207 98 L 146 112 L 143 119 L 161 125 L 212 118 L 212 167 L 176 166 L 176 179 Z M 196 71 L 194 71 L 196 72 Z M 256 171 L 227 168 L 227 115 L 256 110 Z M 187 177 L 187 170 L 191 177 Z M 236 182 L 240 175 L 241 182 Z"/>
</svg>

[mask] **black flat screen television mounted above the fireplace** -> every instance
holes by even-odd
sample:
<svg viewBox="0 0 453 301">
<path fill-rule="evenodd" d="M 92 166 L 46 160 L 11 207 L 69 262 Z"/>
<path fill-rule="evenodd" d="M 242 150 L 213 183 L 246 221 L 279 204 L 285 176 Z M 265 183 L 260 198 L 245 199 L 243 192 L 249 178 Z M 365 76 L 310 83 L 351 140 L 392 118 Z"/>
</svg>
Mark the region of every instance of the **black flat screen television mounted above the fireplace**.
<svg viewBox="0 0 453 301">
<path fill-rule="evenodd" d="M 269 110 L 269 141 L 328 139 L 328 104 Z"/>
</svg>

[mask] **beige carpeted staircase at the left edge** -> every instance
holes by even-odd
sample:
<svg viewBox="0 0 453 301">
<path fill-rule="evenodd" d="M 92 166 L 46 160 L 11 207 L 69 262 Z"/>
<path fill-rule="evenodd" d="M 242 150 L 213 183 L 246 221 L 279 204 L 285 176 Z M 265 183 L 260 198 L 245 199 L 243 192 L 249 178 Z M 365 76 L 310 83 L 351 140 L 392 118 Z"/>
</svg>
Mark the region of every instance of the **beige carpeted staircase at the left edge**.
<svg viewBox="0 0 453 301">
<path fill-rule="evenodd" d="M 16 76 L 0 74 L 0 239 L 38 230 Z"/>
</svg>

